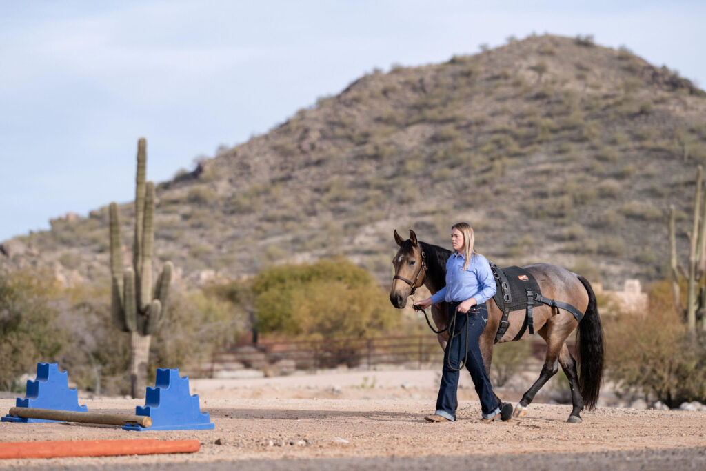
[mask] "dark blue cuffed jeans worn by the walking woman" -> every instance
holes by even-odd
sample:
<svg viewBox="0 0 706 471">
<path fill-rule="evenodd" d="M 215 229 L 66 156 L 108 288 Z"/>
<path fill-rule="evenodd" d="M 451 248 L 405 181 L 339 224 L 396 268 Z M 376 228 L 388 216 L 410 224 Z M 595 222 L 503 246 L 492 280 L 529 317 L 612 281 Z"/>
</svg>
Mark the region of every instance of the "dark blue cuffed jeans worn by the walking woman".
<svg viewBox="0 0 706 471">
<path fill-rule="evenodd" d="M 468 329 L 466 329 L 466 315 L 456 311 L 460 303 L 448 303 L 448 321 L 456 316 L 456 325 L 453 338 L 446 344 L 443 352 L 443 369 L 441 370 L 441 386 L 436 400 L 436 414 L 450 420 L 456 419 L 456 393 L 458 389 L 458 368 L 466 357 L 464 349 L 466 347 L 466 333 L 468 334 L 468 358 L 466 369 L 471 374 L 476 393 L 481 400 L 481 412 L 484 419 L 489 419 L 500 413 L 500 408 L 493 393 L 493 387 L 483 365 L 481 349 L 478 345 L 478 338 L 485 330 L 488 323 L 488 308 L 485 303 L 472 306 L 468 310 Z"/>
</svg>

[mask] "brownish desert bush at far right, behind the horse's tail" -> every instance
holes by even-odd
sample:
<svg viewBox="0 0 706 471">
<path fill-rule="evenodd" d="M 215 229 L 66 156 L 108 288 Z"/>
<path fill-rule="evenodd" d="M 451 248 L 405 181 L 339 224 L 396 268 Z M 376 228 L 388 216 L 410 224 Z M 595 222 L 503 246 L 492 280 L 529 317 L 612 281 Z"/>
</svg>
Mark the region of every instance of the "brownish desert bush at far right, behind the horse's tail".
<svg viewBox="0 0 706 471">
<path fill-rule="evenodd" d="M 706 338 L 686 333 L 669 281 L 650 288 L 644 315 L 606 323 L 606 373 L 623 394 L 659 399 L 670 407 L 706 401 Z"/>
</svg>

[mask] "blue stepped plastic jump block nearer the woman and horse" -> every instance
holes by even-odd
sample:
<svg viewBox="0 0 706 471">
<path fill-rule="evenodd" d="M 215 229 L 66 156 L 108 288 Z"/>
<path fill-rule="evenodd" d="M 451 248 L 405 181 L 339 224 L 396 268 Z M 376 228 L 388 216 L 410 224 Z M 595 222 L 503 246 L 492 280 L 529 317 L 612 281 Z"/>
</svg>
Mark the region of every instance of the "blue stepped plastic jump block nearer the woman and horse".
<svg viewBox="0 0 706 471">
<path fill-rule="evenodd" d="M 147 388 L 145 407 L 138 405 L 135 415 L 152 418 L 151 427 L 125 425 L 125 430 L 210 430 L 215 424 L 208 412 L 201 413 L 198 394 L 189 394 L 189 376 L 181 378 L 179 369 L 157 368 L 154 388 Z"/>
</svg>

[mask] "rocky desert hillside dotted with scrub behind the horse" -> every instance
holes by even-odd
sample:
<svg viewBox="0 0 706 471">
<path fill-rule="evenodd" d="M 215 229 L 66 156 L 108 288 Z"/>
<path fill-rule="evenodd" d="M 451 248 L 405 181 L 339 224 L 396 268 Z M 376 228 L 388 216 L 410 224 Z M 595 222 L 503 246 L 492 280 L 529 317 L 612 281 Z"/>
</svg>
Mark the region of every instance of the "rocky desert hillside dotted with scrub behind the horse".
<svg viewBox="0 0 706 471">
<path fill-rule="evenodd" d="M 590 38 L 532 36 L 375 71 L 161 183 L 155 254 L 193 283 L 336 254 L 389 282 L 393 229 L 448 246 L 467 220 L 500 264 L 653 280 L 671 204 L 686 246 L 705 160 L 706 97 L 690 81 Z M 5 242 L 0 265 L 104 282 L 108 202 L 96 203 Z M 131 241 L 131 204 L 121 217 Z"/>
</svg>

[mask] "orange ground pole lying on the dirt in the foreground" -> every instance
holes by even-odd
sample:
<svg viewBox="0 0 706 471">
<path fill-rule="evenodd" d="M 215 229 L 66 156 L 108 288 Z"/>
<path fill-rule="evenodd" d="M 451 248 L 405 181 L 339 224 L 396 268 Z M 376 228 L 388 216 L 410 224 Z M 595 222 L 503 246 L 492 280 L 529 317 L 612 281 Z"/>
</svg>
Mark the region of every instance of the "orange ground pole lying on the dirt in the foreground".
<svg viewBox="0 0 706 471">
<path fill-rule="evenodd" d="M 157 441 L 152 439 L 133 439 L 0 442 L 0 459 L 194 453 L 199 448 L 201 448 L 201 444 L 198 440 Z"/>
</svg>

